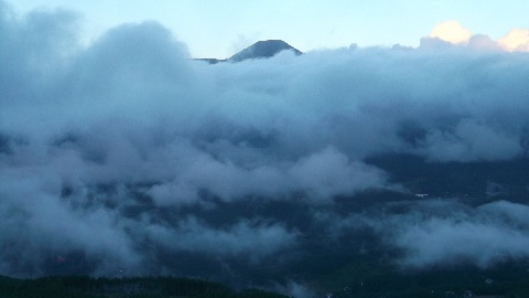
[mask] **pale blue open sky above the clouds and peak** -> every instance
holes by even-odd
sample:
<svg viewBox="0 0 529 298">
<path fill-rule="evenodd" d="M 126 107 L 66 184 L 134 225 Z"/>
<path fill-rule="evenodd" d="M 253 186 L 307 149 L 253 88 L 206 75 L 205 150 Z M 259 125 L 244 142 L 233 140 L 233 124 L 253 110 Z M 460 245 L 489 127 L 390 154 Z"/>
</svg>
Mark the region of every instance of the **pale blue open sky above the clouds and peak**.
<svg viewBox="0 0 529 298">
<path fill-rule="evenodd" d="M 498 40 L 528 29 L 529 2 L 506 0 L 374 1 L 205 1 L 205 0 L 17 0 L 18 12 L 57 8 L 76 11 L 83 39 L 109 28 L 154 20 L 186 44 L 193 57 L 226 58 L 259 40 L 284 40 L 302 52 L 360 46 L 418 46 L 422 36 L 449 20 L 473 34 Z"/>
</svg>

